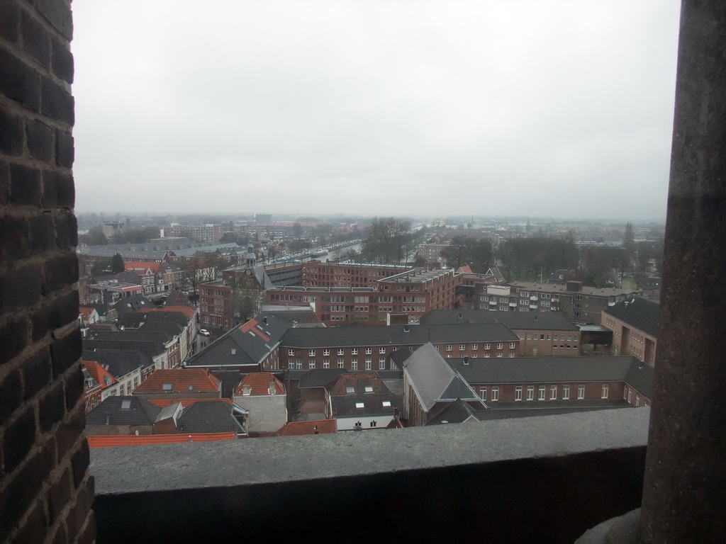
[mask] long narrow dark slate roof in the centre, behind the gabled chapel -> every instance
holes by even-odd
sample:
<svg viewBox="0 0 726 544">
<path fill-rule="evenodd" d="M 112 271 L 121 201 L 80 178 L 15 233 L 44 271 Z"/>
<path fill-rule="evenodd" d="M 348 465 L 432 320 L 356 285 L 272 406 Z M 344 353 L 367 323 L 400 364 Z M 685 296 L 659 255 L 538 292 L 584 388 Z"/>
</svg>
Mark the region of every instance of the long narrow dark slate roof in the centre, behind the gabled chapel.
<svg viewBox="0 0 726 544">
<path fill-rule="evenodd" d="M 408 329 L 408 332 L 404 329 Z M 344 326 L 325 329 L 290 329 L 284 347 L 345 347 L 424 345 L 458 342 L 513 342 L 519 337 L 502 323 L 457 325 Z"/>
</svg>

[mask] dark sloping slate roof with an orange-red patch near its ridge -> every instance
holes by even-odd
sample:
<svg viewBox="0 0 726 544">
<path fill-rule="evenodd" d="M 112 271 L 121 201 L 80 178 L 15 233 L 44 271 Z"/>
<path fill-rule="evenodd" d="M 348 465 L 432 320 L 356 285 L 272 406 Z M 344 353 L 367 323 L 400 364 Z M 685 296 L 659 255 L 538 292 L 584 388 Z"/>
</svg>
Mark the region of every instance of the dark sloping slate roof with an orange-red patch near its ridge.
<svg viewBox="0 0 726 544">
<path fill-rule="evenodd" d="M 264 319 L 267 323 L 264 323 Z M 187 360 L 186 366 L 254 366 L 262 360 L 292 325 L 266 314 L 234 327 Z M 308 329 L 314 330 L 314 329 Z"/>
</svg>

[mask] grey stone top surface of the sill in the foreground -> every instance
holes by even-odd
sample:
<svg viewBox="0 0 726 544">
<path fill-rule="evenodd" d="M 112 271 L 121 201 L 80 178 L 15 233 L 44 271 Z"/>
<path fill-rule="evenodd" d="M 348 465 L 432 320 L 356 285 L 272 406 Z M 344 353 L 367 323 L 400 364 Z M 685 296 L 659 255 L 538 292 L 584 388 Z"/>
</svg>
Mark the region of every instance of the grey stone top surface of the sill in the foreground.
<svg viewBox="0 0 726 544">
<path fill-rule="evenodd" d="M 91 450 L 97 496 L 393 474 L 645 447 L 650 408 Z"/>
</svg>

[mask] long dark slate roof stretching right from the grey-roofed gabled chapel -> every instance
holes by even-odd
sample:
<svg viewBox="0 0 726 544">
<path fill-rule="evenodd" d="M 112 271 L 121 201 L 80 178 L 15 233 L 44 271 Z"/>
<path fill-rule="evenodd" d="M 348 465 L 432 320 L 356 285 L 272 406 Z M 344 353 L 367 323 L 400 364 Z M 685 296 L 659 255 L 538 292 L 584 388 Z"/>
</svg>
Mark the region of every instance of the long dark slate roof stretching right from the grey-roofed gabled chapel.
<svg viewBox="0 0 726 544">
<path fill-rule="evenodd" d="M 470 384 L 546 384 L 558 382 L 621 382 L 635 367 L 650 368 L 635 357 L 518 357 L 512 359 L 446 359 L 446 362 Z M 648 396 L 653 369 L 633 371 Z M 638 389 L 635 384 L 633 387 Z M 640 391 L 640 389 L 638 389 Z M 650 397 L 648 397 L 650 398 Z"/>
</svg>

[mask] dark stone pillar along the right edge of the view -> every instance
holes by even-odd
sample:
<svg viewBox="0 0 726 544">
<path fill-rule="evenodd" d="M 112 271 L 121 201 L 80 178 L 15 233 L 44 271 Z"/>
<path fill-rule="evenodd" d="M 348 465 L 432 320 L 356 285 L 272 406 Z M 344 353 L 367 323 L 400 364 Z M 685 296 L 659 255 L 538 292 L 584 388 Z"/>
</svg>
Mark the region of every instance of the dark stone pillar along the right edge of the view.
<svg viewBox="0 0 726 544">
<path fill-rule="evenodd" d="M 664 291 L 641 523 L 726 535 L 726 3 L 683 0 Z"/>
</svg>

